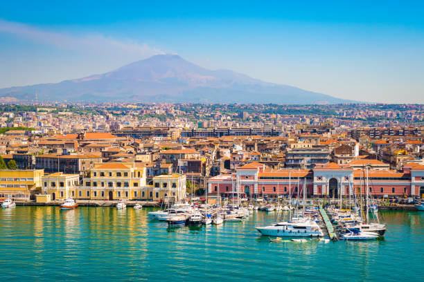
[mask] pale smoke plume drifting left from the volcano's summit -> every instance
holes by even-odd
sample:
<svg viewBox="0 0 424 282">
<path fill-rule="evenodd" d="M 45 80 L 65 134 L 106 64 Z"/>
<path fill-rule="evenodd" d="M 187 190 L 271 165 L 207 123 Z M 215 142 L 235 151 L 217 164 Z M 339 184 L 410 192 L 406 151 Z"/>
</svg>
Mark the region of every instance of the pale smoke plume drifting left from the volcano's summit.
<svg viewBox="0 0 424 282">
<path fill-rule="evenodd" d="M 56 46 L 62 50 L 79 50 L 95 55 L 117 55 L 143 59 L 163 54 L 158 48 L 130 39 L 114 39 L 101 34 L 69 35 L 64 32 L 44 30 L 13 21 L 0 19 L 0 32 L 8 33 L 41 44 Z"/>
</svg>

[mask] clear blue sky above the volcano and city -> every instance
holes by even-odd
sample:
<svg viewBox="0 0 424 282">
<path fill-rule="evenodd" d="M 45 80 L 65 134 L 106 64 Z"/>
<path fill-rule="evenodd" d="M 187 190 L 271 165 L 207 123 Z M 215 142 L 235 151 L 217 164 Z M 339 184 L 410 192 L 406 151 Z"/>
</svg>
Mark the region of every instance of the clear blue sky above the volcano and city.
<svg viewBox="0 0 424 282">
<path fill-rule="evenodd" d="M 343 99 L 424 104 L 424 1 L 201 2 L 0 1 L 0 88 L 175 53 Z"/>
</svg>

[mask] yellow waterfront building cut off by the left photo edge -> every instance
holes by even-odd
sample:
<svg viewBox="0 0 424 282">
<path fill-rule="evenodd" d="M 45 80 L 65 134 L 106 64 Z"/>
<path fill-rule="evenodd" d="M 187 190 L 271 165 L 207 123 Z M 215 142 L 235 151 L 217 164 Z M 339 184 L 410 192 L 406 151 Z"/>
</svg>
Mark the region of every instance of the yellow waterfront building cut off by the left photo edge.
<svg viewBox="0 0 424 282">
<path fill-rule="evenodd" d="M 35 200 L 41 192 L 44 169 L 2 169 L 0 170 L 0 198 Z"/>
</svg>

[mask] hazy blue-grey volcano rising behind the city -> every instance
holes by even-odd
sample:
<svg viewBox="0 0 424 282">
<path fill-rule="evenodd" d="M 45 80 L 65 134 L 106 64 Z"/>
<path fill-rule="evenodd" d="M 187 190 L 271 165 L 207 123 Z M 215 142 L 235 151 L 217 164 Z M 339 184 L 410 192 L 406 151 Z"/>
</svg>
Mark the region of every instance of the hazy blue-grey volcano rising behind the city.
<svg viewBox="0 0 424 282">
<path fill-rule="evenodd" d="M 227 70 L 211 71 L 178 55 L 156 55 L 127 66 L 55 84 L 0 89 L 0 102 L 201 102 L 338 104 L 353 102 L 301 88 L 262 82 Z"/>
</svg>

